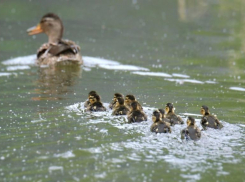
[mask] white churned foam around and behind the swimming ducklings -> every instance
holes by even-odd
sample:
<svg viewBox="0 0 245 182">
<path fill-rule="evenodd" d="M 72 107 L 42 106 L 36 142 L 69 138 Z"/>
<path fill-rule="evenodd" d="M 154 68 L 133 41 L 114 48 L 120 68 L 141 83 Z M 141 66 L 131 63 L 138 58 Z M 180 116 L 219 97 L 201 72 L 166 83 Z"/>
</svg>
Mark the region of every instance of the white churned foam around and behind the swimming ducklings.
<svg viewBox="0 0 245 182">
<path fill-rule="evenodd" d="M 83 105 L 83 103 L 77 103 L 66 107 L 66 109 L 68 112 L 78 111 L 77 114 L 80 115 L 80 108 L 76 107 L 81 107 L 81 105 Z M 236 146 L 243 145 L 240 139 L 245 137 L 244 126 L 221 121 L 224 125 L 222 130 L 208 129 L 202 131 L 202 137 L 199 141 L 182 141 L 180 139 L 180 131 L 186 127 L 186 124 L 171 127 L 172 133 L 170 134 L 155 134 L 150 132 L 150 126 L 152 124 L 151 114 L 154 109 L 155 108 L 144 107 L 144 111 L 148 116 L 148 121 L 134 124 L 127 124 L 126 116 L 111 116 L 110 110 L 99 114 L 83 113 L 84 117 L 87 117 L 87 115 L 97 116 L 94 119 L 90 116 L 90 119 L 83 123 L 84 125 L 103 122 L 123 130 L 124 135 L 140 133 L 141 136 L 133 137 L 123 142 L 107 143 L 102 146 L 81 150 L 98 154 L 111 150 L 125 151 L 125 149 L 127 149 L 127 151 L 131 152 L 124 153 L 126 159 L 146 162 L 160 162 L 164 160 L 165 162 L 176 166 L 183 172 L 191 171 L 190 174 L 182 176 L 189 181 L 191 181 L 192 177 L 195 179 L 200 178 L 200 176 L 196 176 L 197 172 L 203 173 L 206 170 L 211 170 L 213 168 L 217 170 L 217 174 L 228 175 L 229 173 L 224 171 L 222 163 L 240 162 L 240 159 L 237 159 L 236 156 L 242 154 L 241 151 L 236 150 Z M 181 117 L 186 121 L 186 117 L 189 115 L 197 117 L 196 123 L 201 129 L 200 119 L 198 119 L 201 115 L 195 113 L 183 113 Z M 106 130 L 105 132 L 108 131 Z M 222 162 L 208 162 L 213 160 Z M 120 162 L 122 162 L 121 159 L 118 163 Z M 117 163 L 117 160 L 115 160 L 114 163 Z"/>
</svg>

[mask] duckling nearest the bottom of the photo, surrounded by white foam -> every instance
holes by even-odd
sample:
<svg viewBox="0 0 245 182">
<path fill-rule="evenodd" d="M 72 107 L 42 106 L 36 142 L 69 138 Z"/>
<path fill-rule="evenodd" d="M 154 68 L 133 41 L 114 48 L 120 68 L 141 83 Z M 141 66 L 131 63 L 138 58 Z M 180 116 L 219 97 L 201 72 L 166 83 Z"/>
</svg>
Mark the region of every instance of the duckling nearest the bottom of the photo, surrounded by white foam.
<svg viewBox="0 0 245 182">
<path fill-rule="evenodd" d="M 181 139 L 199 140 L 201 138 L 201 131 L 196 126 L 195 119 L 189 116 L 186 121 L 186 124 L 187 124 L 187 128 L 181 131 Z"/>
</svg>

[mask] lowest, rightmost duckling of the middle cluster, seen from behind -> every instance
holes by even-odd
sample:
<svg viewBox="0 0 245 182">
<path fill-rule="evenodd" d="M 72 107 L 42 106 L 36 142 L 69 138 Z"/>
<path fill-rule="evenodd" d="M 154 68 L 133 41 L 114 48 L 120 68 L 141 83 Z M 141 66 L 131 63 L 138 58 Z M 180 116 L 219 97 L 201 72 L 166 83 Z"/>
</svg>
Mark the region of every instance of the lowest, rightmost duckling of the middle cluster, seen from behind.
<svg viewBox="0 0 245 182">
<path fill-rule="evenodd" d="M 147 121 L 146 114 L 140 110 L 139 103 L 134 101 L 131 103 L 131 111 L 128 114 L 128 123 Z"/>
</svg>

